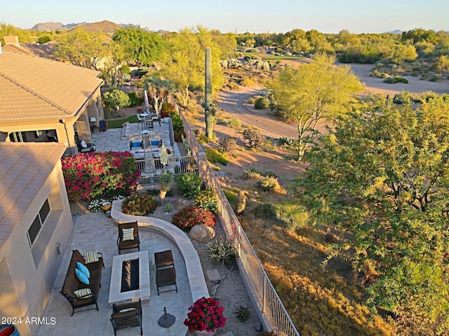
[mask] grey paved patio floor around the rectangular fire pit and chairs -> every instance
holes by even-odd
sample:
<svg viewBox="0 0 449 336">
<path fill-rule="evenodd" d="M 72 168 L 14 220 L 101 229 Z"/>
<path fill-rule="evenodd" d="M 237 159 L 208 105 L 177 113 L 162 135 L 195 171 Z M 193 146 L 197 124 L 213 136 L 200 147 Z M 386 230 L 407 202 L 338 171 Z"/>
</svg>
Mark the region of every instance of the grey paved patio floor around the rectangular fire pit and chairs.
<svg viewBox="0 0 449 336">
<path fill-rule="evenodd" d="M 175 245 L 168 239 L 152 232 L 140 230 L 140 251 L 148 251 L 149 267 L 150 267 L 150 287 L 151 295 L 149 301 L 142 302 L 142 321 L 144 335 L 154 336 L 185 336 L 187 328 L 182 323 L 187 317 L 187 309 L 192 305 L 192 294 L 189 281 L 187 278 L 187 269 L 184 260 Z M 112 314 L 112 307 L 107 303 L 109 295 L 109 283 L 112 272 L 112 257 L 118 255 L 119 251 L 116 246 L 117 227 L 111 218 L 107 218 L 105 214 L 95 213 L 74 217 L 74 231 L 69 241 L 67 251 L 62 255 L 61 267 L 55 284 L 48 300 L 46 311 L 43 316 L 51 321 L 55 318 L 55 325 L 41 325 L 39 328 L 39 336 L 56 336 L 56 335 L 113 335 L 114 330 L 109 318 Z M 65 275 L 72 250 L 88 251 L 96 248 L 103 254 L 105 260 L 105 268 L 102 270 L 100 295 L 98 298 L 99 311 L 90 310 L 72 314 L 72 307 L 69 302 L 59 292 L 64 283 Z M 175 260 L 177 293 L 167 292 L 157 295 L 155 268 L 154 268 L 154 252 L 165 251 L 171 249 L 173 251 L 173 259 Z M 134 252 L 137 250 L 130 250 Z M 126 253 L 126 252 L 122 252 Z M 164 290 L 166 288 L 161 288 Z M 168 313 L 173 314 L 176 318 L 175 324 L 170 328 L 161 328 L 158 325 L 159 318 L 163 315 L 163 307 L 167 308 Z M 130 328 L 118 332 L 120 336 L 139 335 L 138 328 Z"/>
</svg>

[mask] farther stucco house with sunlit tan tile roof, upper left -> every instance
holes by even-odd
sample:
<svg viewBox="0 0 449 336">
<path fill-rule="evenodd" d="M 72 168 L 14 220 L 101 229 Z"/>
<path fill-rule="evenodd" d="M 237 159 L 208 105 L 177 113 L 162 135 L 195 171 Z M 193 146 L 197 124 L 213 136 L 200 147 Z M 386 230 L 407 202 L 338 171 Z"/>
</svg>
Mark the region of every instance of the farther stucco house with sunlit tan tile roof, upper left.
<svg viewBox="0 0 449 336">
<path fill-rule="evenodd" d="M 105 118 L 100 71 L 0 49 L 0 142 L 56 141 L 66 155 Z"/>
</svg>

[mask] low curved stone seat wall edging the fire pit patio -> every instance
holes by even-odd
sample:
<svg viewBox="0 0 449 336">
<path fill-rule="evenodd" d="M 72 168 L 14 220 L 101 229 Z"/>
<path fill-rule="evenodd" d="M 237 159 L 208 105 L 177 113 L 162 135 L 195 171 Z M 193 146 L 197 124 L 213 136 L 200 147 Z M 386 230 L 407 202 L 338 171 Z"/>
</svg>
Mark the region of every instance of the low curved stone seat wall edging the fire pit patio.
<svg viewBox="0 0 449 336">
<path fill-rule="evenodd" d="M 166 237 L 170 240 L 182 255 L 187 269 L 187 277 L 189 279 L 190 290 L 192 292 L 192 300 L 195 302 L 199 298 L 209 297 L 209 291 L 204 279 L 203 269 L 199 260 L 198 253 L 190 241 L 189 237 L 180 228 L 172 223 L 163 221 L 159 218 L 132 216 L 121 212 L 121 200 L 112 202 L 111 218 L 115 223 L 128 223 L 138 221 L 139 230 L 155 232 L 158 235 Z"/>
</svg>

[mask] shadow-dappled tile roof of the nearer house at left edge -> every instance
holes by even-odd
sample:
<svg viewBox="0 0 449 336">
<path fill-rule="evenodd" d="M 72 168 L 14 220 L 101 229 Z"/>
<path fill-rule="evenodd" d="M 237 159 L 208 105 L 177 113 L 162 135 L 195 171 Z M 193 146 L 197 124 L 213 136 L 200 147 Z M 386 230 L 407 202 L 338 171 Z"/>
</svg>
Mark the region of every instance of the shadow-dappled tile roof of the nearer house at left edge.
<svg viewBox="0 0 449 336">
<path fill-rule="evenodd" d="M 0 142 L 0 248 L 65 149 L 64 144 L 54 142 Z"/>
</svg>

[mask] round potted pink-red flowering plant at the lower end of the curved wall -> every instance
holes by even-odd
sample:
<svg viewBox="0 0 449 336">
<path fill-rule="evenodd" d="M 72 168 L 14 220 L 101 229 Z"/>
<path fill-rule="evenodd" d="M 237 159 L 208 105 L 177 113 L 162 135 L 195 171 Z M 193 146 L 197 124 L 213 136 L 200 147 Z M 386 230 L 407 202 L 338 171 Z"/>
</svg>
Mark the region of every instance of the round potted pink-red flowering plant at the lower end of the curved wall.
<svg viewBox="0 0 449 336">
<path fill-rule="evenodd" d="M 224 307 L 220 306 L 217 300 L 211 297 L 201 297 L 189 307 L 189 313 L 184 321 L 184 325 L 189 328 L 189 332 L 203 331 L 214 332 L 217 328 L 222 328 L 226 324 L 223 316 Z"/>
</svg>

